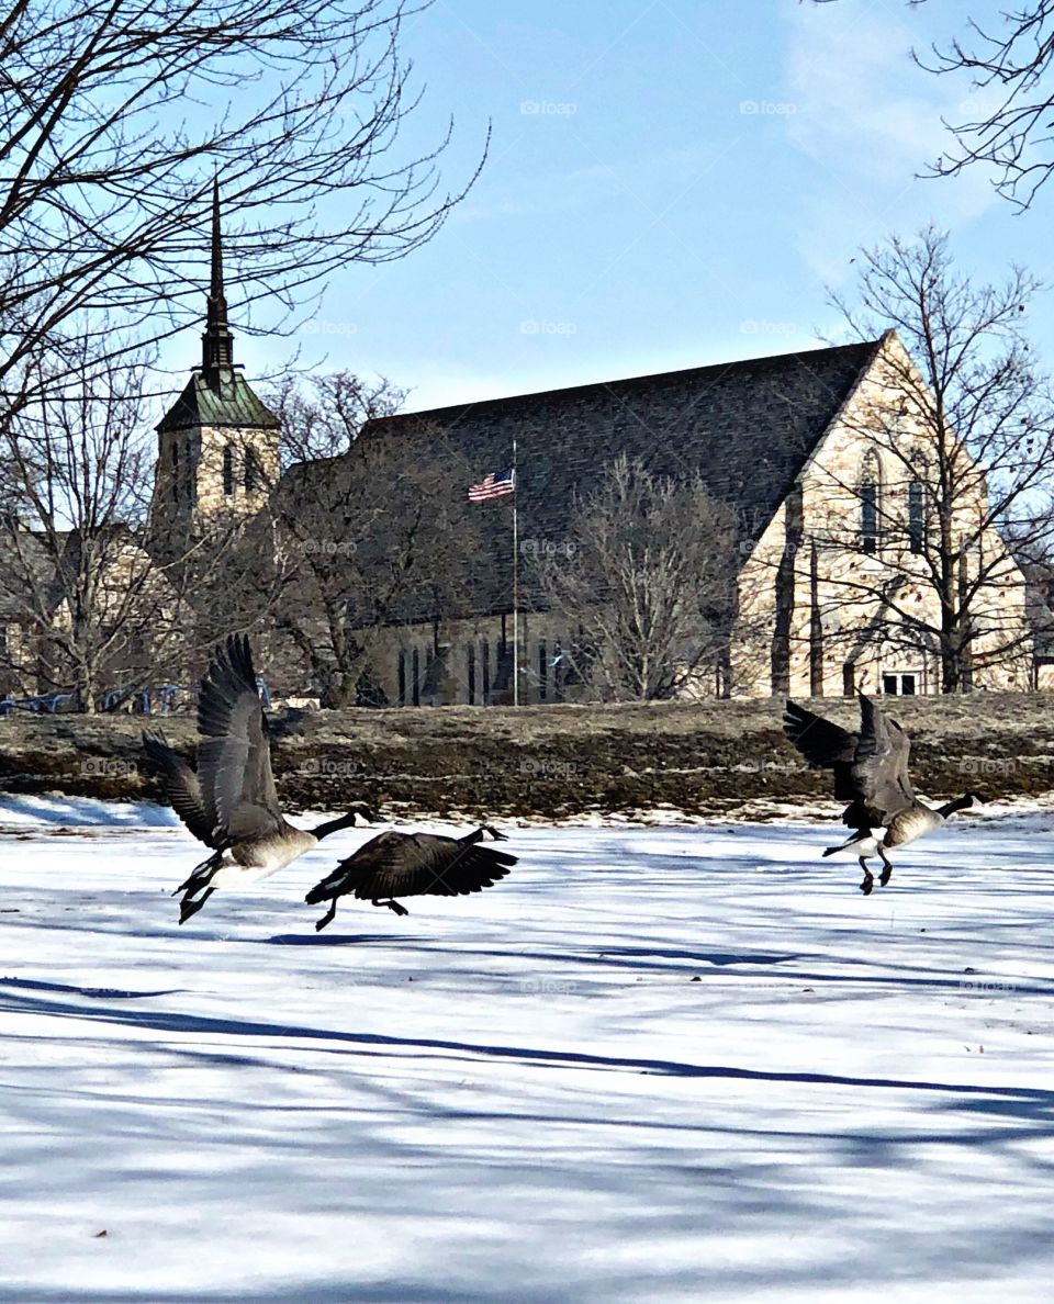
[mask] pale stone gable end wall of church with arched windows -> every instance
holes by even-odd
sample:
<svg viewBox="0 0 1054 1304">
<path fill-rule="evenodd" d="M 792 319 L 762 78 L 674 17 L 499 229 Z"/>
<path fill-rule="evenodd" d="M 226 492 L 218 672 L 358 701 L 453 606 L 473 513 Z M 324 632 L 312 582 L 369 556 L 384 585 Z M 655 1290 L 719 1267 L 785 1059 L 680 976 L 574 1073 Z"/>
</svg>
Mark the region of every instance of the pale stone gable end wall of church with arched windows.
<svg viewBox="0 0 1054 1304">
<path fill-rule="evenodd" d="M 890 365 L 890 360 L 895 365 Z M 896 374 L 909 360 L 895 335 L 887 336 L 860 385 L 839 411 L 780 505 L 740 576 L 741 618 L 733 638 L 734 691 L 831 695 L 852 691 L 938 692 L 939 657 L 925 639 L 907 634 L 896 610 L 939 622 L 935 589 L 921 556 L 911 549 L 911 481 L 901 458 L 926 447 L 926 434 L 903 419 L 882 424 L 877 407 L 888 408 Z M 897 455 L 891 456 L 895 441 Z M 875 476 L 882 493 L 882 528 L 873 554 L 860 545 L 862 473 Z M 980 476 L 977 477 L 980 482 Z M 984 511 L 965 496 L 957 505 L 964 532 Z M 978 661 L 998 655 L 973 674 L 974 689 L 1028 690 L 1034 686 L 1033 648 L 1025 578 L 994 529 L 980 548 L 991 582 L 972 604 L 990 635 L 978 636 Z M 977 578 L 977 559 L 964 576 Z M 891 591 L 891 604 L 883 601 Z M 777 648 L 776 644 L 781 644 Z"/>
</svg>

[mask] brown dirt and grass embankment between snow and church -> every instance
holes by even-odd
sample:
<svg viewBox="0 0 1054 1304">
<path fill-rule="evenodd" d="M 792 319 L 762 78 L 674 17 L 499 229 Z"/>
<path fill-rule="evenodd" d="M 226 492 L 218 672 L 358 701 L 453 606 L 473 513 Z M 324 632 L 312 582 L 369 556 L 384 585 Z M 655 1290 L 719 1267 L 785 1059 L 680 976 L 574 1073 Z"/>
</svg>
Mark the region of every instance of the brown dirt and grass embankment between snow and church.
<svg viewBox="0 0 1054 1304">
<path fill-rule="evenodd" d="M 814 703 L 853 726 L 854 703 Z M 920 792 L 990 798 L 1054 789 L 1054 698 L 977 694 L 899 699 Z M 414 815 L 540 816 L 668 806 L 734 814 L 758 799 L 828 795 L 780 729 L 781 704 L 661 703 L 624 707 L 446 707 L 279 711 L 270 717 L 274 771 L 291 811 L 365 801 Z M 0 790 L 157 797 L 141 764 L 142 719 L 0 719 Z M 192 716 L 157 720 L 187 754 Z"/>
</svg>

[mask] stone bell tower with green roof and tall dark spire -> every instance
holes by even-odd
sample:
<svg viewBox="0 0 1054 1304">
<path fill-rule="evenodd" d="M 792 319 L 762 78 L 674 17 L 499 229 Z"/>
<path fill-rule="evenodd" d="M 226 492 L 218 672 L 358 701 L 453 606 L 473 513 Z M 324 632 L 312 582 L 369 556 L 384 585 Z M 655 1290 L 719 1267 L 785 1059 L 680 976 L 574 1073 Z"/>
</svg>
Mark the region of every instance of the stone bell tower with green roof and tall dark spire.
<svg viewBox="0 0 1054 1304">
<path fill-rule="evenodd" d="M 213 181 L 211 276 L 201 365 L 157 425 L 151 520 L 173 546 L 217 518 L 252 516 L 278 481 L 279 422 L 233 360 L 223 293 L 219 180 Z"/>
</svg>

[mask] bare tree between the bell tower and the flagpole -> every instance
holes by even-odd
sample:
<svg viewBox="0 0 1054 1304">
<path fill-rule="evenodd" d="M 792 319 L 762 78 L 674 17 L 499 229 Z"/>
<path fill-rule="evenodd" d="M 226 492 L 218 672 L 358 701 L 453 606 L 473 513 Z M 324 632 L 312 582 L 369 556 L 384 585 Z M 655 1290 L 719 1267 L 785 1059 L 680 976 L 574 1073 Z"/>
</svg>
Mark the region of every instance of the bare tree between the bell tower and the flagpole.
<svg viewBox="0 0 1054 1304">
<path fill-rule="evenodd" d="M 441 432 L 359 438 L 402 398 L 387 381 L 338 373 L 270 400 L 287 467 L 266 527 L 278 540 L 270 618 L 327 707 L 373 703 L 370 657 L 384 632 L 400 621 L 438 625 L 468 592 L 477 544 L 467 467 Z"/>
</svg>

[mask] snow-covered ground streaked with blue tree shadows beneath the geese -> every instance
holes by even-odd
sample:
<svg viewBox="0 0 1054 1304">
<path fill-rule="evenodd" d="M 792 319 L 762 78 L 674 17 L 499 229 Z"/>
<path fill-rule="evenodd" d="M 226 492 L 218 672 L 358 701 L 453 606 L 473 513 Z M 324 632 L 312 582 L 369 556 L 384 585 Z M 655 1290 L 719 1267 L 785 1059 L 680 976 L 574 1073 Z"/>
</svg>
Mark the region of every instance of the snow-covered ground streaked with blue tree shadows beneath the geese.
<svg viewBox="0 0 1054 1304">
<path fill-rule="evenodd" d="M 1050 816 L 519 829 L 477 897 L 176 926 L 167 812 L 0 805 L 0 1299 L 1054 1297 Z M 100 1235 L 106 1232 L 106 1235 Z"/>
</svg>

